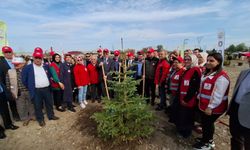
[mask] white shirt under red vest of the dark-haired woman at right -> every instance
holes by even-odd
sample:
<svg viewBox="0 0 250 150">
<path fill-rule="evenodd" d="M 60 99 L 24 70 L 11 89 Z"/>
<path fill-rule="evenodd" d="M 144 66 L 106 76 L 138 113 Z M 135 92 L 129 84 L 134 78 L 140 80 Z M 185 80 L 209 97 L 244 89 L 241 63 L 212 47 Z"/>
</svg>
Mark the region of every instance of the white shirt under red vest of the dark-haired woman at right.
<svg viewBox="0 0 250 150">
<path fill-rule="evenodd" d="M 213 78 L 213 77 L 214 73 L 206 77 L 202 76 L 201 84 L 205 81 L 206 78 Z M 211 94 L 210 103 L 208 105 L 209 108 L 214 109 L 221 104 L 228 86 L 229 86 L 229 81 L 227 78 L 225 78 L 224 76 L 220 76 L 219 78 L 217 78 L 217 80 L 215 81 L 213 92 Z"/>
</svg>

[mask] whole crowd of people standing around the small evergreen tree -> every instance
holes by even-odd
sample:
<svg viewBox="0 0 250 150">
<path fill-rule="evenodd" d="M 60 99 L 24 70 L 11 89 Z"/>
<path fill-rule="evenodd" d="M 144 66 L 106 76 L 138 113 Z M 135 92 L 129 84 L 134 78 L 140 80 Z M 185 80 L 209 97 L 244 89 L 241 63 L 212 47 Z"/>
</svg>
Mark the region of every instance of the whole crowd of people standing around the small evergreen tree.
<svg viewBox="0 0 250 150">
<path fill-rule="evenodd" d="M 28 125 L 37 120 L 45 126 L 43 108 L 49 120 L 58 120 L 53 111 L 75 112 L 73 101 L 78 101 L 84 109 L 88 102 L 101 102 L 102 96 L 114 93 L 107 90 L 106 80 L 115 80 L 110 72 L 121 72 L 120 51 L 110 56 L 108 49 L 98 49 L 97 56 L 73 57 L 51 53 L 51 60 L 43 61 L 43 50 L 34 49 L 33 61 L 28 63 L 22 57 L 13 57 L 11 47 L 2 48 L 4 57 L 0 59 L 0 107 L 5 129 L 15 130 L 10 117 L 22 120 Z M 248 57 L 250 58 L 250 56 Z M 62 61 L 63 60 L 63 61 Z M 250 62 L 250 59 L 249 59 Z M 230 115 L 232 149 L 250 149 L 250 69 L 243 71 L 237 80 L 233 98 L 228 107 L 230 79 L 223 70 L 220 53 L 206 53 L 199 49 L 187 50 L 182 58 L 178 51 L 167 54 L 165 50 L 127 53 L 126 66 L 134 71 L 132 77 L 141 80 L 137 94 L 146 97 L 146 103 L 155 105 L 159 96 L 157 111 L 166 110 L 169 122 L 174 123 L 177 134 L 188 138 L 194 123 L 202 127 L 202 137 L 196 139 L 195 149 L 212 149 L 214 123 L 227 112 Z M 145 84 L 143 84 L 143 81 Z M 228 109 L 229 108 L 229 109 Z M 0 138 L 4 138 L 4 128 L 0 126 Z"/>
</svg>

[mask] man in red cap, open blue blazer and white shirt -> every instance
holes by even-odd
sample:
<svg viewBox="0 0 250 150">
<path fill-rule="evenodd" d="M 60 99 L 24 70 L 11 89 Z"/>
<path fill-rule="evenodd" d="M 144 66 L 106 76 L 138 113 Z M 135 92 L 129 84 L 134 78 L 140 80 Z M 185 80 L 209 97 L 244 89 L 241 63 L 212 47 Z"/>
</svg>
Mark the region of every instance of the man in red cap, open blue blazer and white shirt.
<svg viewBox="0 0 250 150">
<path fill-rule="evenodd" d="M 22 70 L 22 82 L 30 93 L 30 98 L 34 103 L 36 120 L 41 127 L 45 126 L 43 115 L 43 104 L 46 107 L 46 113 L 49 120 L 58 120 L 54 115 L 53 100 L 51 96 L 50 82 L 51 73 L 49 66 L 42 63 L 42 49 L 38 48 L 33 53 L 33 63 L 25 66 Z M 60 84 L 63 87 L 62 84 Z"/>
</svg>

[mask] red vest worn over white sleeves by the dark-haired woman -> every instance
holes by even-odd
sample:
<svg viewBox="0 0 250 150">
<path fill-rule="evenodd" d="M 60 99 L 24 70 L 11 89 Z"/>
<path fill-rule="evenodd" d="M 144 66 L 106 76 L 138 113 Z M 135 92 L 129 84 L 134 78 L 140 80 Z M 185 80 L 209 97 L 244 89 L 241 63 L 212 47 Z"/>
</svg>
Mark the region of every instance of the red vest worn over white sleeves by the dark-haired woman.
<svg viewBox="0 0 250 150">
<path fill-rule="evenodd" d="M 209 103 L 211 102 L 211 95 L 214 90 L 215 82 L 220 76 L 224 76 L 229 80 L 227 73 L 225 71 L 221 71 L 220 73 L 217 73 L 212 79 L 206 78 L 205 81 L 203 81 L 203 83 L 201 84 L 200 101 L 199 101 L 199 108 L 201 111 L 205 111 Z M 229 86 L 226 90 L 225 95 L 222 98 L 221 103 L 212 110 L 213 114 L 223 114 L 227 110 L 228 93 L 229 93 Z"/>
</svg>

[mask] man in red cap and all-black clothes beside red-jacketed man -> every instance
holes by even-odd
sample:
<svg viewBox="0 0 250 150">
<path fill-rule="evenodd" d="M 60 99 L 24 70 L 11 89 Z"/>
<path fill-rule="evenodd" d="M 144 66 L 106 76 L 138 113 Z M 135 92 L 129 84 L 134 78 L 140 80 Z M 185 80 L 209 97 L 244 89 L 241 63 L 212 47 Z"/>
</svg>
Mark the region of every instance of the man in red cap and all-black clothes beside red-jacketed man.
<svg viewBox="0 0 250 150">
<path fill-rule="evenodd" d="M 155 104 L 155 71 L 157 67 L 159 59 L 154 55 L 154 49 L 149 48 L 147 51 L 147 58 L 145 59 L 145 96 L 147 98 L 147 103 L 150 103 L 151 98 L 151 105 Z"/>
</svg>

